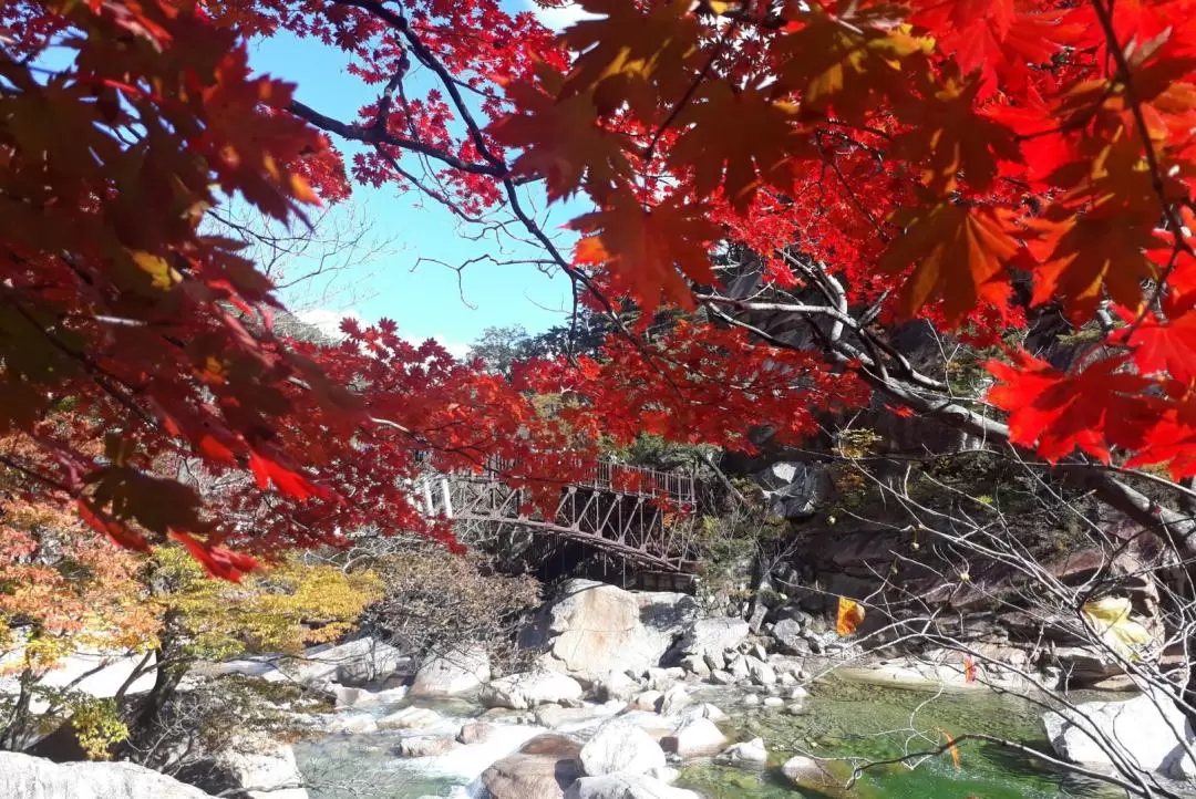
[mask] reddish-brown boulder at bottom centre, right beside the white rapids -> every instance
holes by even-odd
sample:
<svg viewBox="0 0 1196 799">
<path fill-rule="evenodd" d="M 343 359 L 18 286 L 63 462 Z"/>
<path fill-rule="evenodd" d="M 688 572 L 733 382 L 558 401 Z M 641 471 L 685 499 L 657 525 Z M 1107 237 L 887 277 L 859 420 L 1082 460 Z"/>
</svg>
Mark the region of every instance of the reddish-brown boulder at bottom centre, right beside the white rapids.
<svg viewBox="0 0 1196 799">
<path fill-rule="evenodd" d="M 490 799 L 562 799 L 581 772 L 581 744 L 566 736 L 537 736 L 490 764 L 481 782 Z"/>
</svg>

